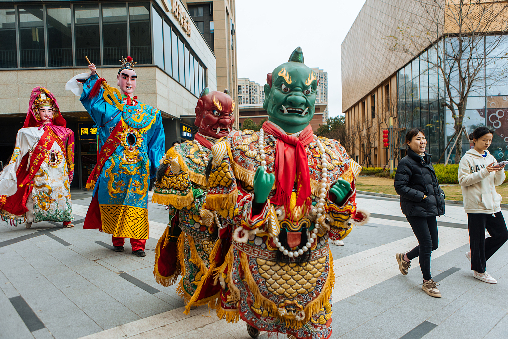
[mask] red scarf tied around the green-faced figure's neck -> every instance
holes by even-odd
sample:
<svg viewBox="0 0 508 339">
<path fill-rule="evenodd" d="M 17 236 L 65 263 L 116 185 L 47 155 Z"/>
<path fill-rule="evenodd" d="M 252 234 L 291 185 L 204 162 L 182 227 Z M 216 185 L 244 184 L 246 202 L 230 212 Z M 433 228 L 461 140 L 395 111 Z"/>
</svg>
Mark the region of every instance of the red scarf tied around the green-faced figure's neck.
<svg viewBox="0 0 508 339">
<path fill-rule="evenodd" d="M 290 199 L 295 183 L 297 182 L 296 206 L 309 202 L 310 178 L 307 165 L 305 146 L 312 140 L 312 128 L 307 125 L 300 132 L 298 138 L 281 132 L 270 121 L 265 121 L 263 129 L 277 138 L 275 148 L 276 191 L 270 200 L 276 205 L 283 205 L 286 213 L 291 214 Z"/>
</svg>

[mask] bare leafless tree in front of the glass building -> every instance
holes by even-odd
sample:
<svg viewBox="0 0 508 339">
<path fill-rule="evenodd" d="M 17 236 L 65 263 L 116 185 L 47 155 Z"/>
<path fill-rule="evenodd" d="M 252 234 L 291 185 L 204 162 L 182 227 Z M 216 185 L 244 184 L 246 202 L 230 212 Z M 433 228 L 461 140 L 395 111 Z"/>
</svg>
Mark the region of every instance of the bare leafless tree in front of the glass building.
<svg viewBox="0 0 508 339">
<path fill-rule="evenodd" d="M 429 64 L 437 68 L 442 81 L 440 103 L 455 120 L 454 129 L 462 131 L 469 96 L 485 87 L 485 81 L 501 81 L 506 72 L 484 72 L 491 56 L 502 43 L 508 22 L 508 2 L 503 0 L 413 0 L 418 15 L 404 22 L 390 36 L 390 48 L 417 56 L 433 50 Z M 502 52 L 506 56 L 506 51 Z M 485 57 L 489 56 L 489 57 Z M 495 55 L 499 57 L 500 55 Z M 459 137 L 455 163 L 462 157 L 462 137 Z"/>
</svg>

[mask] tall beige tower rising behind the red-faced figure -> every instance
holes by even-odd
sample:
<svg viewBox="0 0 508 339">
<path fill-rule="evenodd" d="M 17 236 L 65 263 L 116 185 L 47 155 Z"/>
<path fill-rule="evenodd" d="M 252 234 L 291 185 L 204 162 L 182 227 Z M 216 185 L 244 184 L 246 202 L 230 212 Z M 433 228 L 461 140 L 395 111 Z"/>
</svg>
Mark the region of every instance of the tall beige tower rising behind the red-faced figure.
<svg viewBox="0 0 508 339">
<path fill-rule="evenodd" d="M 216 57 L 217 90 L 237 97 L 235 0 L 182 0 Z M 235 108 L 238 128 L 238 105 Z"/>
</svg>

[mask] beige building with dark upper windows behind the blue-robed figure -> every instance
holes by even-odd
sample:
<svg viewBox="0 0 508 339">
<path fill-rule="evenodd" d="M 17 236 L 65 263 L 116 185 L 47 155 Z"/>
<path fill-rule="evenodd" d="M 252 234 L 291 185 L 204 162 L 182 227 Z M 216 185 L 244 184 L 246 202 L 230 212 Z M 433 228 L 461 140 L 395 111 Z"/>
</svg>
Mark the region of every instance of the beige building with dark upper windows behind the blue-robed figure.
<svg viewBox="0 0 508 339">
<path fill-rule="evenodd" d="M 73 187 L 84 186 L 97 155 L 93 122 L 65 90 L 88 72 L 85 55 L 112 86 L 118 59 L 134 57 L 136 95 L 161 110 L 167 148 L 192 139 L 199 94 L 217 86 L 213 51 L 179 1 L 0 1 L 0 37 L 0 161 L 12 154 L 31 89 L 43 86 L 76 133 Z"/>
</svg>

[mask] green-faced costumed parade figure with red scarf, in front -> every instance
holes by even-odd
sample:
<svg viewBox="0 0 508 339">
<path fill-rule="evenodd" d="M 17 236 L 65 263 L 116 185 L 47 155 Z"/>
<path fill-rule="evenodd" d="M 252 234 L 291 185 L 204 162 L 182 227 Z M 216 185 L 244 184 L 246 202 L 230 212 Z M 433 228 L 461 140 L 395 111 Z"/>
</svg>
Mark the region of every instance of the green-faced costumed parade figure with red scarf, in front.
<svg viewBox="0 0 508 339">
<path fill-rule="evenodd" d="M 328 241 L 367 220 L 355 203 L 360 165 L 337 141 L 312 134 L 317 84 L 298 47 L 267 77 L 261 131 L 237 131 L 212 146 L 206 208 L 229 225 L 198 290 L 220 286 L 218 317 L 241 318 L 252 337 L 260 330 L 330 337 Z"/>
</svg>

